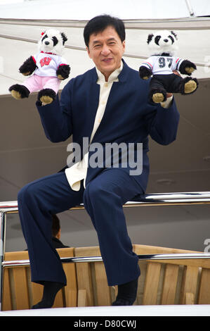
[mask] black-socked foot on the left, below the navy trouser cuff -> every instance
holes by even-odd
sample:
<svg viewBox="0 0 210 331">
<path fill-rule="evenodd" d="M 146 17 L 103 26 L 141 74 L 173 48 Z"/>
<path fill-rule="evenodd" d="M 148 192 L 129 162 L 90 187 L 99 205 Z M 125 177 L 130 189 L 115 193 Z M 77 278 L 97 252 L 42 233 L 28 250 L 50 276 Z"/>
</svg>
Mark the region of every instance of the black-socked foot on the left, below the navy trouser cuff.
<svg viewBox="0 0 210 331">
<path fill-rule="evenodd" d="M 63 283 L 60 282 L 45 282 L 42 299 L 38 304 L 32 306 L 32 309 L 51 308 L 56 294 L 63 286 Z"/>
</svg>

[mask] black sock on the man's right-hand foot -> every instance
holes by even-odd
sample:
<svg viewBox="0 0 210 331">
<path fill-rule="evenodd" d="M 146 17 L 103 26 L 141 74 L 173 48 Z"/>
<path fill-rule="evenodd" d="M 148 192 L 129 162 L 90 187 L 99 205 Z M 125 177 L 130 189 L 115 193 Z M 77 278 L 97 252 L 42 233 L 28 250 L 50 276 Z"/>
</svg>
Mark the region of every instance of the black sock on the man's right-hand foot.
<svg viewBox="0 0 210 331">
<path fill-rule="evenodd" d="M 128 300 L 133 304 L 133 302 L 136 300 L 137 288 L 138 279 L 132 280 L 131 282 L 126 282 L 122 285 L 118 285 L 117 299 L 124 299 L 126 301 Z"/>
</svg>

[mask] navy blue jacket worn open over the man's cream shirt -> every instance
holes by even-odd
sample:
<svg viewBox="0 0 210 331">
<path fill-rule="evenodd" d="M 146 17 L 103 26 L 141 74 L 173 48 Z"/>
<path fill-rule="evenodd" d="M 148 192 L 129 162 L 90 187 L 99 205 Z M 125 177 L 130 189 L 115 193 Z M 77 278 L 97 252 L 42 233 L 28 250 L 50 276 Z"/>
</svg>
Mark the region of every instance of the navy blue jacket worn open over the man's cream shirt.
<svg viewBox="0 0 210 331">
<path fill-rule="evenodd" d="M 150 80 L 140 79 L 138 71 L 129 68 L 125 62 L 118 79 L 119 82 L 112 85 L 103 119 L 92 143 L 99 142 L 103 146 L 107 142 L 143 143 L 143 172 L 133 177 L 145 192 L 149 175 L 148 136 L 163 145 L 173 142 L 179 114 L 175 101 L 167 109 L 159 104 L 148 104 Z M 83 149 L 83 137 L 91 137 L 98 109 L 100 85 L 97 80 L 96 68 L 93 68 L 72 78 L 65 85 L 60 101 L 57 96 L 46 106 L 40 106 L 37 102 L 41 123 L 51 142 L 63 142 L 72 135 L 72 141 Z M 129 164 L 122 169 L 127 172 L 131 170 Z M 101 170 L 103 168 L 88 167 L 86 185 Z"/>
</svg>

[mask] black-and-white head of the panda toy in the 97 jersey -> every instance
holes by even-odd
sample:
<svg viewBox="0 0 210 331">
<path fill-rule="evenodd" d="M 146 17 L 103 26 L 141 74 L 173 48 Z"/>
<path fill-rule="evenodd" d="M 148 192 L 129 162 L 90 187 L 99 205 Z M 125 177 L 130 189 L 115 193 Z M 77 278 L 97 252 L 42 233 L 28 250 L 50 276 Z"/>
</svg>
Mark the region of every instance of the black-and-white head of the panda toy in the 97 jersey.
<svg viewBox="0 0 210 331">
<path fill-rule="evenodd" d="M 167 30 L 148 35 L 147 44 L 150 55 L 169 54 L 173 56 L 178 49 L 176 33 Z"/>
</svg>

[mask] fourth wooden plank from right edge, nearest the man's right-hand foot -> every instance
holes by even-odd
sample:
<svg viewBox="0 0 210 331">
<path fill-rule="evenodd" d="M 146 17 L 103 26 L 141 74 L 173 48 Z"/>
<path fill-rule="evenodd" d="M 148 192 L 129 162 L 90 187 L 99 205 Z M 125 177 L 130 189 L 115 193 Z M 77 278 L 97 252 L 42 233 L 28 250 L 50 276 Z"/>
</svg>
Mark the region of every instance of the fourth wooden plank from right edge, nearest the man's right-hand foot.
<svg viewBox="0 0 210 331">
<path fill-rule="evenodd" d="M 143 294 L 143 305 L 156 304 L 160 270 L 161 263 L 148 262 Z"/>
</svg>

